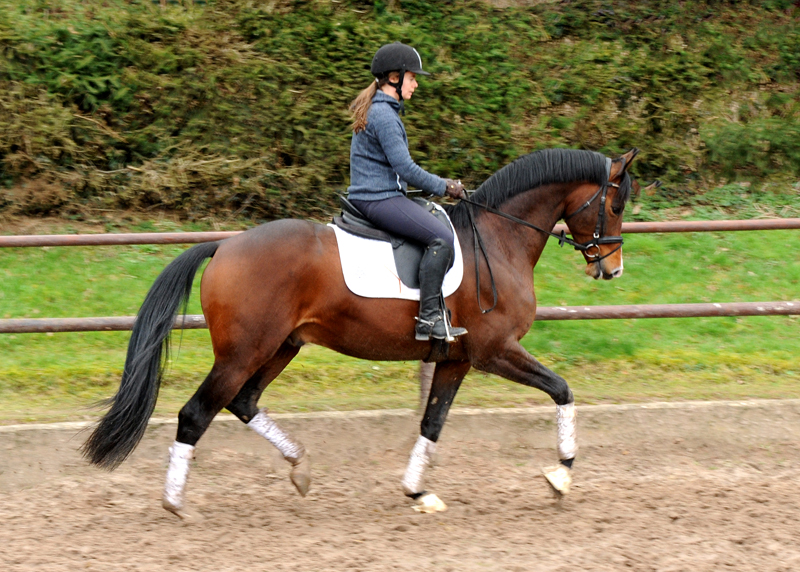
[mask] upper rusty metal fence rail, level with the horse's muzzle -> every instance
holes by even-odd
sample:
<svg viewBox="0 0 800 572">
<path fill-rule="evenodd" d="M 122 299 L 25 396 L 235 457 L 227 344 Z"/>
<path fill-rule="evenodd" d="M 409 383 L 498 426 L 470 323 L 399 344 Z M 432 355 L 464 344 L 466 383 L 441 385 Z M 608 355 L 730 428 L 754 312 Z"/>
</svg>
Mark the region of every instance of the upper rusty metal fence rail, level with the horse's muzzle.
<svg viewBox="0 0 800 572">
<path fill-rule="evenodd" d="M 728 232 L 739 230 L 800 229 L 800 218 L 756 220 L 691 220 L 667 222 L 622 223 L 623 234 L 660 232 Z M 554 232 L 569 232 L 566 225 L 557 224 Z M 120 234 L 46 234 L 0 236 L 0 247 L 28 246 L 113 246 L 126 244 L 195 244 L 236 236 L 244 231 L 227 232 L 154 232 Z"/>
</svg>

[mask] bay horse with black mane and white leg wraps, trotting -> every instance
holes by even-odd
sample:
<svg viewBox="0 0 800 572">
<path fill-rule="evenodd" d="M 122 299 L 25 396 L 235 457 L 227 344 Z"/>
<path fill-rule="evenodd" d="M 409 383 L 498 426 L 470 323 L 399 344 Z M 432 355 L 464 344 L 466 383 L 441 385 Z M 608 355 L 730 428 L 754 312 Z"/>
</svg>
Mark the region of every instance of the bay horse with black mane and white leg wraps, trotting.
<svg viewBox="0 0 800 572">
<path fill-rule="evenodd" d="M 552 398 L 560 463 L 545 476 L 554 490 L 568 492 L 577 453 L 574 397 L 562 377 L 519 343 L 536 315 L 533 268 L 552 235 L 581 251 L 590 277 L 622 275 L 622 215 L 636 184 L 628 168 L 637 153 L 631 149 L 612 160 L 592 151 L 536 151 L 498 170 L 470 198 L 445 205 L 464 262 L 462 283 L 447 305 L 453 323 L 468 334 L 455 339 L 436 363 L 401 482 L 419 510 L 446 508 L 425 491 L 424 472 L 471 368 Z M 560 219 L 571 239 L 552 233 Z M 179 517 L 191 514 L 184 495 L 195 446 L 223 408 L 283 454 L 292 483 L 306 495 L 308 453 L 258 407 L 261 394 L 304 344 L 365 360 L 419 361 L 432 355 L 431 342 L 413 335 L 417 302 L 364 298 L 348 289 L 328 225 L 282 219 L 198 244 L 162 271 L 137 314 L 119 389 L 82 446 L 90 463 L 113 470 L 141 440 L 169 356 L 170 332 L 181 307 L 185 314 L 194 276 L 208 258 L 200 297 L 214 364 L 178 415 L 162 502 Z"/>
</svg>

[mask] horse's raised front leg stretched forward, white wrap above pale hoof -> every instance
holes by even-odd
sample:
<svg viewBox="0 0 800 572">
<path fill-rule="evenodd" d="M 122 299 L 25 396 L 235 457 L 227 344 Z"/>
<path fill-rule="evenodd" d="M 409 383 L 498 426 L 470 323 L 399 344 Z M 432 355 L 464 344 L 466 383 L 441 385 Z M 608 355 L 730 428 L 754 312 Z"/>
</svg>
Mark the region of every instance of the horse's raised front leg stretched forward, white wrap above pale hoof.
<svg viewBox="0 0 800 572">
<path fill-rule="evenodd" d="M 505 351 L 497 352 L 476 368 L 494 373 L 511 381 L 541 389 L 556 403 L 556 435 L 560 465 L 546 467 L 545 478 L 559 494 L 567 494 L 572 482 L 570 469 L 578 452 L 575 426 L 575 400 L 567 382 L 536 361 L 519 342 L 513 342 Z"/>
</svg>

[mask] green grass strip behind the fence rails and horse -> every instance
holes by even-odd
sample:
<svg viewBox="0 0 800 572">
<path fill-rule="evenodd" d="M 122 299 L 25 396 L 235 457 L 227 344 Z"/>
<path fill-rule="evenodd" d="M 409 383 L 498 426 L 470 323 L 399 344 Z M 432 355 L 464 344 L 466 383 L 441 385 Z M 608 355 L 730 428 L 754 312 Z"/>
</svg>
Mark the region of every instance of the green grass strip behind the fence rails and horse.
<svg viewBox="0 0 800 572">
<path fill-rule="evenodd" d="M 171 230 L 149 224 L 150 230 Z M 139 227 L 133 230 L 143 230 Z M 0 250 L 0 317 L 135 314 L 185 247 Z M 797 231 L 629 235 L 625 275 L 583 274 L 551 241 L 536 268 L 551 305 L 745 302 L 800 298 Z M 199 313 L 197 285 L 189 312 Z M 500 292 L 501 296 L 513 295 Z M 523 344 L 582 403 L 800 397 L 796 317 L 537 322 Z M 92 418 L 116 390 L 127 332 L 0 335 L 0 423 Z M 208 332 L 175 336 L 156 415 L 173 416 L 211 367 Z M 415 407 L 417 364 L 365 362 L 303 348 L 262 404 L 275 411 Z M 548 403 L 541 392 L 472 372 L 459 406 Z"/>
</svg>

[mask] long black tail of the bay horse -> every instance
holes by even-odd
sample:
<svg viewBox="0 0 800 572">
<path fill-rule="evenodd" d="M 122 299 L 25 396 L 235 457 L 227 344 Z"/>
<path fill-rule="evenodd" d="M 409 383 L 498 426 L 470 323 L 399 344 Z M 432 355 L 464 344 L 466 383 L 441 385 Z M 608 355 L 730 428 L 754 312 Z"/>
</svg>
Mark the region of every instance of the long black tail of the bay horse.
<svg viewBox="0 0 800 572">
<path fill-rule="evenodd" d="M 173 260 L 151 286 L 133 324 L 119 390 L 82 447 L 91 463 L 115 469 L 142 439 L 169 358 L 169 335 L 175 316 L 181 305 L 186 313 L 194 275 L 217 248 L 219 242 L 190 248 Z"/>
</svg>

